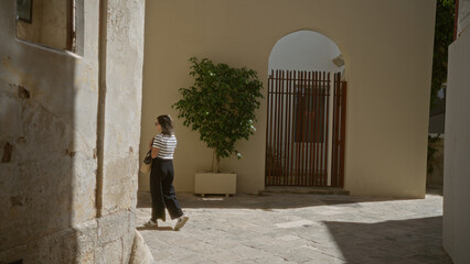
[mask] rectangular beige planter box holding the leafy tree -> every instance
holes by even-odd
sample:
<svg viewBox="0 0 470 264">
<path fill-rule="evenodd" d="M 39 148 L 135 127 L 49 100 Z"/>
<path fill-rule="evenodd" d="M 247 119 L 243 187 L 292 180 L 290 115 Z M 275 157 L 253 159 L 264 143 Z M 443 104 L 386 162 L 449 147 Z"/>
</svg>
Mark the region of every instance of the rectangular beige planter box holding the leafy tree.
<svg viewBox="0 0 470 264">
<path fill-rule="evenodd" d="M 234 195 L 236 194 L 236 174 L 228 173 L 196 173 L 194 178 L 194 194 L 204 195 Z"/>
</svg>

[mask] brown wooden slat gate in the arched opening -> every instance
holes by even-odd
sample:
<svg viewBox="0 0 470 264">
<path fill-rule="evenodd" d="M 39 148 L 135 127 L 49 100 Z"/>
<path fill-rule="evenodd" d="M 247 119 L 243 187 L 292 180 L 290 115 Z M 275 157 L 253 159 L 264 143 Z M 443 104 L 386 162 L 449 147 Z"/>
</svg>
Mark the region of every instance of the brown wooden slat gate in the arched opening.
<svg viewBox="0 0 470 264">
<path fill-rule="evenodd" d="M 267 102 L 266 185 L 343 187 L 346 82 L 341 74 L 331 80 L 325 72 L 273 70 Z"/>
</svg>

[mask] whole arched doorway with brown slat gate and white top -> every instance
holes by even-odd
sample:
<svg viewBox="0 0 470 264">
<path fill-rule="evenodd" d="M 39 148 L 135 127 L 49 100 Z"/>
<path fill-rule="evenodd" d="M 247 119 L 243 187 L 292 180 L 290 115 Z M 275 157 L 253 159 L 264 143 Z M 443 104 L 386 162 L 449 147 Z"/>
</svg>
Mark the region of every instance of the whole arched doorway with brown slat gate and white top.
<svg viewBox="0 0 470 264">
<path fill-rule="evenodd" d="M 269 56 L 267 186 L 343 187 L 346 82 L 338 45 L 312 31 Z"/>
</svg>

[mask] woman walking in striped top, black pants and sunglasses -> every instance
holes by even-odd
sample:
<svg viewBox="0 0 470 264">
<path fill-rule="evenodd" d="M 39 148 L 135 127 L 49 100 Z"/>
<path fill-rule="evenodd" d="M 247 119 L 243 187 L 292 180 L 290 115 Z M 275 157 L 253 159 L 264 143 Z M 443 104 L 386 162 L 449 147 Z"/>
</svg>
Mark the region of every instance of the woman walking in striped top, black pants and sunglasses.
<svg viewBox="0 0 470 264">
<path fill-rule="evenodd" d="M 152 155 L 150 170 L 152 217 L 143 226 L 158 227 L 158 219 L 165 221 L 164 209 L 167 209 L 171 219 L 178 219 L 174 230 L 180 230 L 189 217 L 181 210 L 173 187 L 173 153 L 177 147 L 173 121 L 170 116 L 163 114 L 157 118 L 156 127 L 159 133 L 149 143 Z"/>
</svg>

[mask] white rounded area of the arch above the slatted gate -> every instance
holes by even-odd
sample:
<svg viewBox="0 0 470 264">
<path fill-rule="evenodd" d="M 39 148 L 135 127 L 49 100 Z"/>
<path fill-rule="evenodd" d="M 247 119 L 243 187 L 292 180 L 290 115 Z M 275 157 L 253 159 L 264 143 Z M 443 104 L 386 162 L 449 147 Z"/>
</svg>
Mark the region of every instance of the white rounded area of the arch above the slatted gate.
<svg viewBox="0 0 470 264">
<path fill-rule="evenodd" d="M 332 59 L 340 48 L 329 37 L 313 31 L 297 31 L 280 38 L 269 55 L 270 69 L 339 72 Z"/>
</svg>

